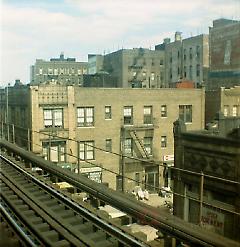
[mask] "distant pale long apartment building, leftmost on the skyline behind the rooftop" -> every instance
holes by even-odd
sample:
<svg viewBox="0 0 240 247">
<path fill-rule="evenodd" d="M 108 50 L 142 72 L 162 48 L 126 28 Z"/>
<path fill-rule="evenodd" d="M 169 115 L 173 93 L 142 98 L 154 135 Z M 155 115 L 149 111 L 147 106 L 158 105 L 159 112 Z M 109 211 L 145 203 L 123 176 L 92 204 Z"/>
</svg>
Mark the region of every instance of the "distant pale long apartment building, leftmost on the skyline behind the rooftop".
<svg viewBox="0 0 240 247">
<path fill-rule="evenodd" d="M 50 61 L 37 59 L 30 69 L 31 85 L 41 83 L 73 85 L 82 84 L 82 75 L 87 74 L 88 63 L 77 62 L 75 58 L 64 58 L 61 53 L 59 58 Z"/>
</svg>

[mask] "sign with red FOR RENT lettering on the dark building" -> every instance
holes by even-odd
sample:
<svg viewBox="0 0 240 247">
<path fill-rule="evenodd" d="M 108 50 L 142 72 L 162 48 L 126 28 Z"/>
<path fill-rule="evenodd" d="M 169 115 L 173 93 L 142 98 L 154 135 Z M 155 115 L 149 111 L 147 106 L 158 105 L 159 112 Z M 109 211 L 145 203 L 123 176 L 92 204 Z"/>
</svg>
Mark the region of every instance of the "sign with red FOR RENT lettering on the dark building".
<svg viewBox="0 0 240 247">
<path fill-rule="evenodd" d="M 224 214 L 220 212 L 203 207 L 201 223 L 206 229 L 218 234 L 224 234 Z"/>
</svg>

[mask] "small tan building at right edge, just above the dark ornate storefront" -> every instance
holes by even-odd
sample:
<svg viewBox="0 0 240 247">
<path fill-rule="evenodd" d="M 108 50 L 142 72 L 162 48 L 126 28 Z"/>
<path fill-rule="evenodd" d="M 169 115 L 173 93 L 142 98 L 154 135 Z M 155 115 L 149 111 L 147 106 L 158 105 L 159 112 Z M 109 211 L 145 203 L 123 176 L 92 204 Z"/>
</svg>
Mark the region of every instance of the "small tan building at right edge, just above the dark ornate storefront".
<svg viewBox="0 0 240 247">
<path fill-rule="evenodd" d="M 240 117 L 240 86 L 208 90 L 205 103 L 206 124 L 212 122 L 219 112 L 225 117 Z"/>
</svg>

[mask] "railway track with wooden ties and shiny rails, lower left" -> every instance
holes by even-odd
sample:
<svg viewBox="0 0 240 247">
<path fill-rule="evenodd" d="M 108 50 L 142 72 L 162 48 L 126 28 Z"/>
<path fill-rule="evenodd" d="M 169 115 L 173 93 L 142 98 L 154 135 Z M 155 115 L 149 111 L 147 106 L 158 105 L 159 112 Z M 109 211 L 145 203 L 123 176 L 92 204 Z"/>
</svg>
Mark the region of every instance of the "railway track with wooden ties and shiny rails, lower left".
<svg viewBox="0 0 240 247">
<path fill-rule="evenodd" d="M 1 214 L 29 246 L 148 246 L 0 155 Z"/>
</svg>

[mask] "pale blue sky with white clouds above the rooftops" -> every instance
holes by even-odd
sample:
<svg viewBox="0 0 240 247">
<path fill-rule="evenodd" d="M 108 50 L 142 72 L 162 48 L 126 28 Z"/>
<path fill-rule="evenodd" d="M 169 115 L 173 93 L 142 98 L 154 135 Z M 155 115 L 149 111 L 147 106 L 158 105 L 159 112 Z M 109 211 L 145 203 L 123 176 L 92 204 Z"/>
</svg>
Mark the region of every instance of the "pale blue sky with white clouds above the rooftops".
<svg viewBox="0 0 240 247">
<path fill-rule="evenodd" d="M 154 49 L 176 31 L 208 33 L 218 18 L 240 19 L 240 0 L 0 0 L 0 86 L 30 80 L 36 59 Z"/>
</svg>

